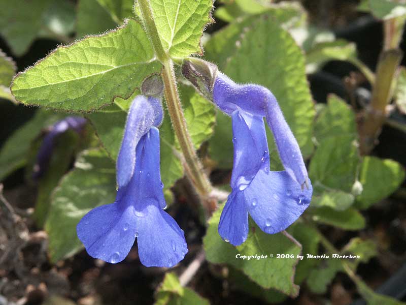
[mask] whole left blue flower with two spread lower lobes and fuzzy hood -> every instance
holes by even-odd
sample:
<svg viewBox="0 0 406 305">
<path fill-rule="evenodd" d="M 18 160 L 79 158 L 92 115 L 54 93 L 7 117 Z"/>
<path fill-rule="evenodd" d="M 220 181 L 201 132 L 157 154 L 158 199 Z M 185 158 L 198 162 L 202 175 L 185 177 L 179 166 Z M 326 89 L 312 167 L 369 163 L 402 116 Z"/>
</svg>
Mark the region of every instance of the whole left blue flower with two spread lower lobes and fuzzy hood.
<svg viewBox="0 0 406 305">
<path fill-rule="evenodd" d="M 117 158 L 116 200 L 86 214 L 77 226 L 87 253 L 110 263 L 122 261 L 137 238 L 145 266 L 172 267 L 183 259 L 183 230 L 166 206 L 159 168 L 160 100 L 138 96 L 131 104 Z"/>
</svg>

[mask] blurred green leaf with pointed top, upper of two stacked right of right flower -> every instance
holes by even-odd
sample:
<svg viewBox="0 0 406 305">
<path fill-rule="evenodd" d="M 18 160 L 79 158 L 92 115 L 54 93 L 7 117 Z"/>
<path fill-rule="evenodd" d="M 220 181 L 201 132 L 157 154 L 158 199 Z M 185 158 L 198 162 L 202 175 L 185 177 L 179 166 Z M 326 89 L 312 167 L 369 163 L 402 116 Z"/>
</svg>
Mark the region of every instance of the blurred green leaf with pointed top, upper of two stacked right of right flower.
<svg viewBox="0 0 406 305">
<path fill-rule="evenodd" d="M 352 136 L 353 140 L 357 139 L 354 111 L 341 98 L 329 95 L 327 107 L 317 116 L 314 134 L 318 142 L 342 135 Z"/>
</svg>

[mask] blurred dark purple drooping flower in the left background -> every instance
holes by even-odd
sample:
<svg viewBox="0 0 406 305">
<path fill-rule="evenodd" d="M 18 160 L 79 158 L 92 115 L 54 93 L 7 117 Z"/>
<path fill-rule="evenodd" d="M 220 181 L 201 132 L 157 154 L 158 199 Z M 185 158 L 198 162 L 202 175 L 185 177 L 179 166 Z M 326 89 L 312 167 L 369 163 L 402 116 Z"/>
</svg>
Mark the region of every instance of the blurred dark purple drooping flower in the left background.
<svg viewBox="0 0 406 305">
<path fill-rule="evenodd" d="M 37 154 L 37 162 L 33 168 L 33 178 L 41 177 L 47 170 L 49 160 L 52 156 L 55 138 L 69 129 L 80 133 L 85 124 L 86 119 L 83 117 L 67 116 L 64 119 L 57 121 L 52 127 L 49 128 Z"/>
</svg>

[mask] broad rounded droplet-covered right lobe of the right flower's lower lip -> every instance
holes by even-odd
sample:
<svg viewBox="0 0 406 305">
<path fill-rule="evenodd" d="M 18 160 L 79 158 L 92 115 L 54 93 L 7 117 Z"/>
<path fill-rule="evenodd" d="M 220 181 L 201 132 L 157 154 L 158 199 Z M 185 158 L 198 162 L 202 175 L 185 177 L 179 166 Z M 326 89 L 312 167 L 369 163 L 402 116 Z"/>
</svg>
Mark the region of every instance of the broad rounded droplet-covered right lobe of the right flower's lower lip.
<svg viewBox="0 0 406 305">
<path fill-rule="evenodd" d="M 312 199 L 312 186 L 301 190 L 286 171 L 261 169 L 244 190 L 249 214 L 265 233 L 285 230 L 295 222 Z"/>
</svg>

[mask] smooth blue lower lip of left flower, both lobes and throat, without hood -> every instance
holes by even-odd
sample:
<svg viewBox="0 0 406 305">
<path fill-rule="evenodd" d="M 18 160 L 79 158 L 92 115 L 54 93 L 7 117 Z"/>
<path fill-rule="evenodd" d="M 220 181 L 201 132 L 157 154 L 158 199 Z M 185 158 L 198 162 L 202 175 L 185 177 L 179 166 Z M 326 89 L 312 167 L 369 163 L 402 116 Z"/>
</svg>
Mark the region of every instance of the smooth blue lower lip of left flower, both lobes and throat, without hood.
<svg viewBox="0 0 406 305">
<path fill-rule="evenodd" d="M 117 263 L 138 238 L 146 266 L 171 267 L 183 259 L 183 231 L 162 210 L 165 200 L 159 173 L 159 131 L 152 127 L 137 145 L 137 164 L 129 184 L 118 190 L 116 202 L 94 208 L 77 226 L 89 255 Z"/>
</svg>

